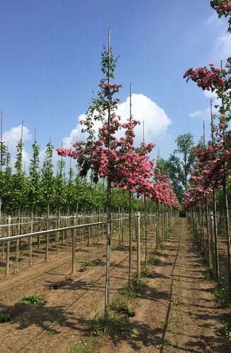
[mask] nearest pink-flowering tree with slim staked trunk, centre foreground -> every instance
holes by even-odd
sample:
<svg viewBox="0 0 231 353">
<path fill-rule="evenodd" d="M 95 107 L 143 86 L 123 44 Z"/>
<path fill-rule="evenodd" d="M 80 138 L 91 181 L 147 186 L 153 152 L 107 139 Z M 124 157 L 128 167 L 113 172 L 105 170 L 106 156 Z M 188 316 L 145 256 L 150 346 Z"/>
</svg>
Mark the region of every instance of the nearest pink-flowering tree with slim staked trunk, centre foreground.
<svg viewBox="0 0 231 353">
<path fill-rule="evenodd" d="M 129 189 L 131 192 L 142 193 L 143 187 L 149 185 L 148 179 L 153 175 L 153 160 L 148 159 L 148 153 L 154 144 L 141 143 L 134 147 L 134 128 L 138 121 L 131 116 L 129 121 L 122 123 L 117 115 L 118 98 L 114 94 L 119 92 L 121 85 L 111 83 L 114 78 L 114 68 L 117 59 L 112 56 L 111 48 L 102 52 L 102 73 L 105 78 L 100 81 L 100 91 L 97 98 L 92 100 L 86 118 L 81 121 L 82 133 L 87 133 L 87 140 L 73 144 L 73 149 L 57 148 L 61 156 L 73 157 L 77 160 L 80 175 L 93 173 L 93 180 L 107 179 L 107 270 L 105 290 L 105 331 L 108 325 L 109 309 L 109 253 L 111 244 L 111 186 Z M 95 121 L 101 126 L 95 132 Z M 124 136 L 117 138 L 117 132 L 123 130 Z"/>
</svg>

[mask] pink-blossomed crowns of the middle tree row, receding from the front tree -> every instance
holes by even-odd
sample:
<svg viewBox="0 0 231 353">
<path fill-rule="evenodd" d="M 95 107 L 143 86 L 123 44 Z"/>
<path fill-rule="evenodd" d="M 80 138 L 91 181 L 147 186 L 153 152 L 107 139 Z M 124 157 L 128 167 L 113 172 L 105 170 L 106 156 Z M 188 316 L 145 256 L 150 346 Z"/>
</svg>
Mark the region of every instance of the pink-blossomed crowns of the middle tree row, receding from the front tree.
<svg viewBox="0 0 231 353">
<path fill-rule="evenodd" d="M 154 160 L 149 159 L 148 154 L 155 144 L 141 143 L 135 148 L 134 128 L 139 122 L 131 116 L 126 123 L 122 123 L 114 112 L 115 104 L 119 100 L 112 100 L 112 95 L 117 93 L 120 87 L 117 83 L 105 83 L 105 80 L 101 80 L 102 91 L 98 99 L 94 100 L 95 104 L 88 110 L 86 119 L 80 121 L 82 132 L 88 133 L 87 141 L 74 143 L 74 150 L 57 148 L 57 152 L 61 156 L 75 158 L 81 176 L 87 176 L 91 170 L 95 182 L 100 178 L 108 178 L 112 186 L 146 195 L 153 201 L 169 207 L 176 207 L 177 198 L 167 177 L 160 172 L 154 172 Z M 96 120 L 102 123 L 97 134 L 94 131 Z M 119 130 L 124 131 L 121 138 L 116 136 Z"/>
</svg>

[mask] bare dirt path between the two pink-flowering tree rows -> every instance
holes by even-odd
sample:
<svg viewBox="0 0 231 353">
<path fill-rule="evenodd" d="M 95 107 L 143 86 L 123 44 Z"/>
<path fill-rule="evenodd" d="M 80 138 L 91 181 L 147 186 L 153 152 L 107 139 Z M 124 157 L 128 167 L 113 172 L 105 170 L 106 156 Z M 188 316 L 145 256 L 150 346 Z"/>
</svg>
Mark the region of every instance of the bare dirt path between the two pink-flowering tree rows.
<svg viewBox="0 0 231 353">
<path fill-rule="evenodd" d="M 220 334 L 230 312 L 213 300 L 206 273 L 186 220 L 179 220 L 131 319 L 135 335 L 115 351 L 231 352 Z"/>
</svg>

